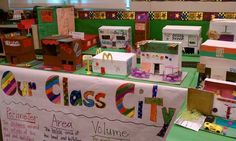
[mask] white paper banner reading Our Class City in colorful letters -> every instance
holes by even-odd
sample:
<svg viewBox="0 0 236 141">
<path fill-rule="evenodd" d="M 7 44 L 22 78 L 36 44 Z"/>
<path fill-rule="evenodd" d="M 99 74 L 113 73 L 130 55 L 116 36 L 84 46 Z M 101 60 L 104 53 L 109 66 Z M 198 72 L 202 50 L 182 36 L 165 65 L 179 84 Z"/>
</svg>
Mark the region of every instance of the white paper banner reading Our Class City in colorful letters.
<svg viewBox="0 0 236 141">
<path fill-rule="evenodd" d="M 186 89 L 0 66 L 4 140 L 164 141 Z"/>
</svg>

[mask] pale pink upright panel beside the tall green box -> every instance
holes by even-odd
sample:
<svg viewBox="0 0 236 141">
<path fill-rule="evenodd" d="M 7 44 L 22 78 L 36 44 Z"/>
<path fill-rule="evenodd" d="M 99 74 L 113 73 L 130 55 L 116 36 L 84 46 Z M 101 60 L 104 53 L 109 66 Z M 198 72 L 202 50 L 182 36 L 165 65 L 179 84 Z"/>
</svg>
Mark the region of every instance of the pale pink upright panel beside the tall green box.
<svg viewBox="0 0 236 141">
<path fill-rule="evenodd" d="M 69 35 L 69 33 L 74 32 L 74 7 L 57 8 L 57 23 L 59 35 Z"/>
</svg>

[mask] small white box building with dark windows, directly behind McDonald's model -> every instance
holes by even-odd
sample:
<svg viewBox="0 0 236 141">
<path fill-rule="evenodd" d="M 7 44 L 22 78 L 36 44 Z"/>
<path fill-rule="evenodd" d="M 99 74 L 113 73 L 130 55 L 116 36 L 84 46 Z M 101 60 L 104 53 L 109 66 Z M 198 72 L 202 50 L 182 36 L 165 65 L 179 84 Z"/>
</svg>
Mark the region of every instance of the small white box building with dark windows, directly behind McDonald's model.
<svg viewBox="0 0 236 141">
<path fill-rule="evenodd" d="M 101 26 L 98 33 L 101 47 L 126 48 L 132 46 L 130 26 Z"/>
</svg>

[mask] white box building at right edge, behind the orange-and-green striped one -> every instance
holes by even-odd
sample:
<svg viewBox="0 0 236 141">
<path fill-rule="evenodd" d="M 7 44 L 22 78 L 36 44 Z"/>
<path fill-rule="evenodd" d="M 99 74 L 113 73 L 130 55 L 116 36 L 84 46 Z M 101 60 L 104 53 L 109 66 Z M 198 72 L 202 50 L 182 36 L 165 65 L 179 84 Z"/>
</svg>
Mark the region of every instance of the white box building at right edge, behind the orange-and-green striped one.
<svg viewBox="0 0 236 141">
<path fill-rule="evenodd" d="M 215 32 L 218 40 L 236 41 L 236 20 L 235 19 L 212 19 L 209 32 Z"/>
</svg>

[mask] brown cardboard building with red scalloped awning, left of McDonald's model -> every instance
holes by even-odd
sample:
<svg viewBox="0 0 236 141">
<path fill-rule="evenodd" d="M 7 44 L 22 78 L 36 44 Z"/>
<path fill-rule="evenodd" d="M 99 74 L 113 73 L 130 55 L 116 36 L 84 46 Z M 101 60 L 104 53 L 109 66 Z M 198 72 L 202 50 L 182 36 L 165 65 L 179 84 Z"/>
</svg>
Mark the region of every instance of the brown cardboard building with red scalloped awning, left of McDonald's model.
<svg viewBox="0 0 236 141">
<path fill-rule="evenodd" d="M 68 36 L 50 36 L 42 40 L 44 65 L 74 71 L 81 67 L 80 40 Z"/>
</svg>

